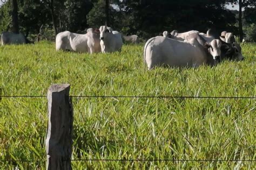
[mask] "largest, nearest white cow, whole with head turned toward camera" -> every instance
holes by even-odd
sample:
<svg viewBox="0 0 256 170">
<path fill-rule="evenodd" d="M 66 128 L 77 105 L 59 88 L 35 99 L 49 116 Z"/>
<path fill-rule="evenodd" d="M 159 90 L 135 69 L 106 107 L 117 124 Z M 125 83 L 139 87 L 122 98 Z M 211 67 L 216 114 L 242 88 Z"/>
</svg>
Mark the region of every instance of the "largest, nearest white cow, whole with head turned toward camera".
<svg viewBox="0 0 256 170">
<path fill-rule="evenodd" d="M 144 47 L 144 60 L 148 69 L 155 66 L 198 67 L 215 65 L 220 57 L 220 40 L 214 39 L 202 46 L 197 39 L 187 42 L 165 37 L 149 39 Z M 209 49 L 212 49 L 209 51 Z"/>
</svg>

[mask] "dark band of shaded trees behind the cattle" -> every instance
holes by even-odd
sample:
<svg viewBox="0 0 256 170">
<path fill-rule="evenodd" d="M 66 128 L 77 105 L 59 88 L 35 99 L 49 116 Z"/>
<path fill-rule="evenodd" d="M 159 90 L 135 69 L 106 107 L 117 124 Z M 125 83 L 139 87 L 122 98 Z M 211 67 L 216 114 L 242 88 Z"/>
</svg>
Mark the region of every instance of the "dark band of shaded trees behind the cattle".
<svg viewBox="0 0 256 170">
<path fill-rule="evenodd" d="M 0 8 L 0 32 L 12 30 L 14 1 L 18 4 L 20 30 L 33 40 L 42 25 L 43 38 L 48 39 L 60 31 L 83 33 L 88 27 L 104 25 L 107 8 L 108 25 L 123 34 L 147 39 L 165 30 L 206 32 L 214 27 L 218 32 L 239 35 L 241 23 L 247 40 L 256 41 L 252 36 L 255 29 L 250 29 L 256 24 L 254 0 L 109 0 L 109 5 L 105 0 L 6 0 Z M 225 8 L 227 3 L 240 4 L 245 9 L 241 19 L 238 11 Z"/>
</svg>

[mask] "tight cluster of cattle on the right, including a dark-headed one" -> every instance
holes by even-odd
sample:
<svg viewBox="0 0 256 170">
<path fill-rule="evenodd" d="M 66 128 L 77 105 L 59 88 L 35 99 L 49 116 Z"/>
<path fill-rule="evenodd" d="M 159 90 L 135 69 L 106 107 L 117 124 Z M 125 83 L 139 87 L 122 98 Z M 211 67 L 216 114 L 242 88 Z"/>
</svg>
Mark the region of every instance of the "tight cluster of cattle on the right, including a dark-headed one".
<svg viewBox="0 0 256 170">
<path fill-rule="evenodd" d="M 153 37 L 144 46 L 144 60 L 149 69 L 155 66 L 213 66 L 223 59 L 244 59 L 241 46 L 235 42 L 233 34 L 226 31 L 219 37 L 214 36 L 211 30 L 206 34 L 199 31 L 164 31 L 163 37 Z"/>
</svg>

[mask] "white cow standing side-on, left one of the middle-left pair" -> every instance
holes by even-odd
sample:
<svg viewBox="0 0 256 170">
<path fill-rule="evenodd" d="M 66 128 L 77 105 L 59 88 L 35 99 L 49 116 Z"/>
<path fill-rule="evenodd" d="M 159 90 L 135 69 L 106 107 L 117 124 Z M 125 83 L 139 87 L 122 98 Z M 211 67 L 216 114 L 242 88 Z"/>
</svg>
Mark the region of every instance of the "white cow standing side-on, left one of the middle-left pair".
<svg viewBox="0 0 256 170">
<path fill-rule="evenodd" d="M 56 36 L 56 51 L 59 49 L 75 52 L 98 53 L 101 51 L 99 31 L 87 29 L 86 34 L 69 31 L 60 32 Z"/>
</svg>

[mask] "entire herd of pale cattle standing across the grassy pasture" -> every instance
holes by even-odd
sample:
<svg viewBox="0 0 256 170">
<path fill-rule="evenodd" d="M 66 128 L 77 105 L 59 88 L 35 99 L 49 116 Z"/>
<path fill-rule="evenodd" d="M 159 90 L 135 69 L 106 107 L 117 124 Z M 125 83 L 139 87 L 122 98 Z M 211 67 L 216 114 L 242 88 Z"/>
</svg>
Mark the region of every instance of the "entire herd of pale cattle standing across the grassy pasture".
<svg viewBox="0 0 256 170">
<path fill-rule="evenodd" d="M 122 36 L 111 27 L 100 26 L 99 29 L 87 29 L 85 34 L 69 31 L 56 36 L 56 51 L 111 53 L 120 51 L 125 41 L 138 44 L 138 36 Z M 2 45 L 24 44 L 29 41 L 23 34 L 3 32 Z M 144 46 L 144 62 L 148 69 L 156 66 L 198 67 L 203 64 L 216 65 L 223 59 L 243 60 L 241 46 L 235 42 L 232 33 L 223 31 L 217 36 L 212 30 L 207 33 L 188 31 L 171 33 L 164 31 L 163 36 L 147 40 Z"/>
</svg>

